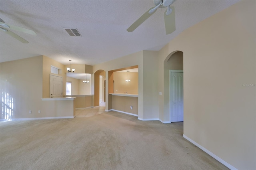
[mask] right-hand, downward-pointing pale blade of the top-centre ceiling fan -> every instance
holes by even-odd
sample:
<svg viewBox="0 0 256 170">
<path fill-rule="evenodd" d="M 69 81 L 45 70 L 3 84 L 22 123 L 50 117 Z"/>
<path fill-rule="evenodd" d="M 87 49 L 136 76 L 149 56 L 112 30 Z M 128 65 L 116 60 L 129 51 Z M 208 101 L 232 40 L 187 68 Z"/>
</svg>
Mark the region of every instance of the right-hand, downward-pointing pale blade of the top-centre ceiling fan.
<svg viewBox="0 0 256 170">
<path fill-rule="evenodd" d="M 166 12 L 168 9 L 164 12 L 164 24 L 165 24 L 166 35 L 171 34 L 176 30 L 174 6 L 171 6 L 170 8 L 172 9 L 171 14 L 166 15 Z"/>
</svg>

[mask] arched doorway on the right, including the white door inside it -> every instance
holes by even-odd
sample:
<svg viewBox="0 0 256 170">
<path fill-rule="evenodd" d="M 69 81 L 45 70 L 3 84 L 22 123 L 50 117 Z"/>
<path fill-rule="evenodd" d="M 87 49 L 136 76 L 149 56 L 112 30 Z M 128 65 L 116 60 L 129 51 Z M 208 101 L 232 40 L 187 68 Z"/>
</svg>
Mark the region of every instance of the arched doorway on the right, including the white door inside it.
<svg viewBox="0 0 256 170">
<path fill-rule="evenodd" d="M 169 123 L 174 122 L 174 121 L 181 121 L 181 119 L 174 120 L 171 119 L 171 114 L 173 114 L 176 111 L 176 108 L 172 105 L 178 104 L 178 102 L 174 102 L 173 99 L 176 97 L 173 96 L 172 94 L 175 93 L 175 91 L 172 91 L 175 88 L 172 88 L 173 81 L 170 79 L 171 77 L 171 72 L 176 72 L 176 73 L 182 73 L 182 80 L 177 80 L 177 81 L 182 81 L 178 83 L 182 83 L 182 91 L 177 91 L 177 94 L 179 95 L 179 100 L 182 100 L 182 105 L 177 106 L 178 111 L 182 111 L 182 121 L 183 121 L 183 52 L 182 51 L 173 51 L 170 53 L 165 61 L 164 61 L 164 117 L 166 120 L 168 120 Z M 180 75 L 172 75 L 172 76 L 180 76 Z M 172 85 L 170 84 L 172 83 Z M 180 88 L 181 88 L 180 87 Z M 178 90 L 178 89 L 177 89 Z M 182 93 L 182 94 L 180 94 Z M 171 96 L 172 95 L 172 96 Z M 180 102 L 180 101 L 179 101 Z M 182 108 L 181 108 L 182 107 Z M 176 113 L 174 113 L 175 115 Z"/>
</svg>

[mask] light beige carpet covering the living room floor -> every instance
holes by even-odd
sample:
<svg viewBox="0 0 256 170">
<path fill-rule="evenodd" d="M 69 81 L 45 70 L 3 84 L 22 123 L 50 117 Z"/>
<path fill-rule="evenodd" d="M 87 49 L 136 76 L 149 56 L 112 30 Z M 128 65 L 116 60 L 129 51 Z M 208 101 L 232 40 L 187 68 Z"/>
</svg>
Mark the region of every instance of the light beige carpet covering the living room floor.
<svg viewBox="0 0 256 170">
<path fill-rule="evenodd" d="M 0 169 L 228 169 L 182 137 L 183 123 L 105 112 L 0 123 Z"/>
</svg>

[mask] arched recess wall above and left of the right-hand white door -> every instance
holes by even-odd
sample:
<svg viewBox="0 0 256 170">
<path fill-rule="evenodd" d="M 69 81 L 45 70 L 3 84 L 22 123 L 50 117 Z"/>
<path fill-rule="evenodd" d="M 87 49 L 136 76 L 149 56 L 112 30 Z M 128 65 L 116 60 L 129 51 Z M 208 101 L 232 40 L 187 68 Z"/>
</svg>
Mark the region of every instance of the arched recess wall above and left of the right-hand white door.
<svg viewBox="0 0 256 170">
<path fill-rule="evenodd" d="M 170 122 L 170 70 L 183 71 L 183 52 L 173 51 L 164 60 L 164 121 Z"/>
</svg>

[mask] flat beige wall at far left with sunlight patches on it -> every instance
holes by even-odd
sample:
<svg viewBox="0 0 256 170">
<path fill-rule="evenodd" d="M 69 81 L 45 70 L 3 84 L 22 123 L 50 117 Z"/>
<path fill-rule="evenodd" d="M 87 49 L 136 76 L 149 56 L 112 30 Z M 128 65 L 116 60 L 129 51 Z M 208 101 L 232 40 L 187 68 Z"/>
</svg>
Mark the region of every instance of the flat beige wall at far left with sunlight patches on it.
<svg viewBox="0 0 256 170">
<path fill-rule="evenodd" d="M 0 63 L 1 99 L 6 93 L 13 99 L 10 119 L 41 117 L 42 61 L 38 56 Z"/>
</svg>

